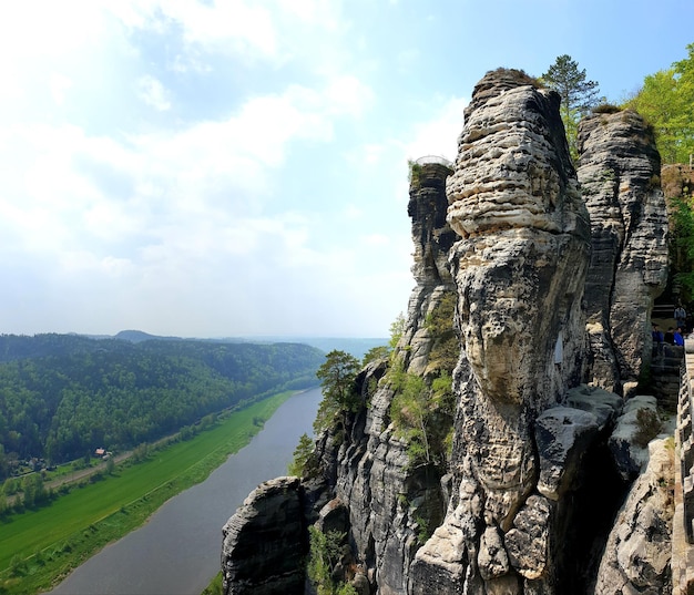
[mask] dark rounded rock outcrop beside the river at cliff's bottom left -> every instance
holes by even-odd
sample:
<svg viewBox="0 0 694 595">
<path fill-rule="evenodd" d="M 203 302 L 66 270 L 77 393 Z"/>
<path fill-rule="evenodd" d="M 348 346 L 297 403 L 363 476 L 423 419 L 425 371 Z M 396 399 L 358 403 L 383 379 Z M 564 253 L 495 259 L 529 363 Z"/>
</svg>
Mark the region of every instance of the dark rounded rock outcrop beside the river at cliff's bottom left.
<svg viewBox="0 0 694 595">
<path fill-rule="evenodd" d="M 303 593 L 307 553 L 298 478 L 256 488 L 222 530 L 225 595 Z"/>
</svg>

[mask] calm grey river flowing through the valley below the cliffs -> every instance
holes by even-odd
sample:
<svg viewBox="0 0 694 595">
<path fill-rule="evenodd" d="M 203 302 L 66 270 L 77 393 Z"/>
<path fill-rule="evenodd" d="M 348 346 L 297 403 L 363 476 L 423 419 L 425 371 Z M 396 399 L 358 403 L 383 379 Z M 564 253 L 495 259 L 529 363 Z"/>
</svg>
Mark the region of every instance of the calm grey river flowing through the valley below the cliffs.
<svg viewBox="0 0 694 595">
<path fill-rule="evenodd" d="M 320 389 L 289 398 L 247 447 L 203 483 L 172 497 L 141 529 L 106 546 L 53 595 L 200 595 L 220 572 L 222 526 L 263 481 L 285 475 L 299 437 L 313 434 Z"/>
</svg>

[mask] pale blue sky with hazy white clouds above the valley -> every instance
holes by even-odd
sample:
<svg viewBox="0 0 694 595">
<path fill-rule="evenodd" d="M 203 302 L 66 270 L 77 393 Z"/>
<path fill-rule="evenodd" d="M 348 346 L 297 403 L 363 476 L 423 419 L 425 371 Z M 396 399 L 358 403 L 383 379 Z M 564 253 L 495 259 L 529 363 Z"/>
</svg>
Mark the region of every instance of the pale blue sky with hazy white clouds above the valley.
<svg viewBox="0 0 694 595">
<path fill-rule="evenodd" d="M 408 160 L 474 84 L 569 54 L 618 103 L 692 0 L 0 6 L 0 334 L 387 337 Z"/>
</svg>

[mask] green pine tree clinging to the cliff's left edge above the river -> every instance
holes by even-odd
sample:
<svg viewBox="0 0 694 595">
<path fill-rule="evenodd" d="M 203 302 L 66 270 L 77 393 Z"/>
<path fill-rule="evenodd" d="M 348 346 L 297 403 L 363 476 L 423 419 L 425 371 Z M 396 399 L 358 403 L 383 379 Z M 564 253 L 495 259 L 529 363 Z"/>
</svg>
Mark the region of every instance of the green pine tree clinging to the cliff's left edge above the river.
<svg viewBox="0 0 694 595">
<path fill-rule="evenodd" d="M 330 427 L 340 411 L 356 410 L 359 399 L 355 379 L 358 372 L 359 360 L 345 351 L 334 349 L 325 357 L 325 362 L 316 372 L 323 387 L 323 400 L 314 421 L 316 433 Z"/>
</svg>

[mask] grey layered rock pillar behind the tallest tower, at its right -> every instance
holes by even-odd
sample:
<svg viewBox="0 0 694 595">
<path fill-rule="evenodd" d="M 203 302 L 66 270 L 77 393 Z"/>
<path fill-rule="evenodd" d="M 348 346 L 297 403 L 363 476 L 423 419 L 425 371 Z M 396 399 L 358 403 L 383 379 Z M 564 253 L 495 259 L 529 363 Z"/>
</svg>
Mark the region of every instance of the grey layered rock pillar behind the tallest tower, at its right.
<svg viewBox="0 0 694 595">
<path fill-rule="evenodd" d="M 630 110 L 579 126 L 578 170 L 591 216 L 585 283 L 592 365 L 588 380 L 613 392 L 651 361 L 651 310 L 667 281 L 667 213 L 652 130 Z"/>
</svg>

